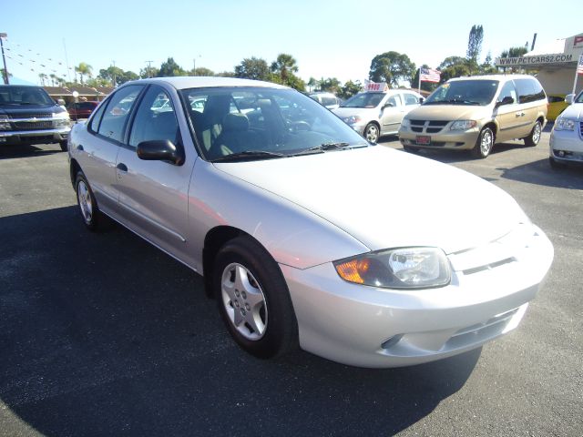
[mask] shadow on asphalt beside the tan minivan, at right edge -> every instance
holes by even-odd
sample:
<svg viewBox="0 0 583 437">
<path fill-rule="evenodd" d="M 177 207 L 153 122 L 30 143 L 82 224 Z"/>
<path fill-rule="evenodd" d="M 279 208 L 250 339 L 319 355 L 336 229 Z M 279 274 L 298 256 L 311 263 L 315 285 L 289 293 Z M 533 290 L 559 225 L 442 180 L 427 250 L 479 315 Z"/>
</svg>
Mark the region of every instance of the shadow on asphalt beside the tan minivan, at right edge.
<svg viewBox="0 0 583 437">
<path fill-rule="evenodd" d="M 583 189 L 583 166 L 551 168 L 548 159 L 539 159 L 514 168 L 496 168 L 501 178 L 555 188 Z"/>
</svg>

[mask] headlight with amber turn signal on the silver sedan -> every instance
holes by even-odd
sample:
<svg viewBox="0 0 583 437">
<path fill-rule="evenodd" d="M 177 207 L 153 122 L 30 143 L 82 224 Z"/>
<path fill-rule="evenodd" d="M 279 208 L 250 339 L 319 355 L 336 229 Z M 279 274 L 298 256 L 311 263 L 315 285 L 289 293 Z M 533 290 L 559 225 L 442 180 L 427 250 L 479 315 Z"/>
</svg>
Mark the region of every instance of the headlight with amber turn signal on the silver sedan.
<svg viewBox="0 0 583 437">
<path fill-rule="evenodd" d="M 348 282 L 386 289 L 429 289 L 449 284 L 451 270 L 437 248 L 385 249 L 334 262 Z"/>
</svg>

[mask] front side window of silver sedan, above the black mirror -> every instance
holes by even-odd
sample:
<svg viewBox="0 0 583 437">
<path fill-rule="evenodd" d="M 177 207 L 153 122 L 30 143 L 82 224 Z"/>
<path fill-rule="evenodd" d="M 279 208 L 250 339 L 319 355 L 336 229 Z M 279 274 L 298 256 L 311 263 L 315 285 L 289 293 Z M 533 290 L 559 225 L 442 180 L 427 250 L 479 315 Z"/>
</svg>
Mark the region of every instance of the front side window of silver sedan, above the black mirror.
<svg viewBox="0 0 583 437">
<path fill-rule="evenodd" d="M 138 107 L 129 135 L 129 146 L 142 141 L 169 139 L 179 144 L 179 123 L 169 95 L 159 86 L 150 86 Z"/>
</svg>

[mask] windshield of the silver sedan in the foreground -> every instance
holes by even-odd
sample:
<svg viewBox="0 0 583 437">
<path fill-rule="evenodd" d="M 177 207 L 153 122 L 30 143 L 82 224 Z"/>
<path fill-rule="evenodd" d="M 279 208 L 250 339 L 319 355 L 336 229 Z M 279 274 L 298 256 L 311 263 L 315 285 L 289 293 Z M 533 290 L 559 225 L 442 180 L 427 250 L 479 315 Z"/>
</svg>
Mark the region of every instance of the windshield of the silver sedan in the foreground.
<svg viewBox="0 0 583 437">
<path fill-rule="evenodd" d="M 291 89 L 224 86 L 181 93 L 208 160 L 287 158 L 368 145 L 340 118 Z"/>
</svg>

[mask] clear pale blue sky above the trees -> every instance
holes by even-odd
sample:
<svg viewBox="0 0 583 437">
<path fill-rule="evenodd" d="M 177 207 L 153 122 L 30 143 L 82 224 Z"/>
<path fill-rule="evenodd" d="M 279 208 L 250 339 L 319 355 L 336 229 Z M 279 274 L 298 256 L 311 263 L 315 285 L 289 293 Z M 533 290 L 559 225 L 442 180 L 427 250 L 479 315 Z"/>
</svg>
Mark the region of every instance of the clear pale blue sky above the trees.
<svg viewBox="0 0 583 437">
<path fill-rule="evenodd" d="M 171 56 L 184 69 L 219 73 L 251 56 L 271 65 L 280 53 L 296 59 L 306 82 L 363 82 L 384 52 L 430 67 L 465 56 L 472 25 L 484 28 L 481 60 L 530 46 L 535 33 L 537 46 L 577 35 L 579 2 L 0 0 L 0 33 L 8 72 L 36 84 L 39 73 L 73 79 L 80 62 L 97 76 L 112 65 L 139 73 Z"/>
</svg>

